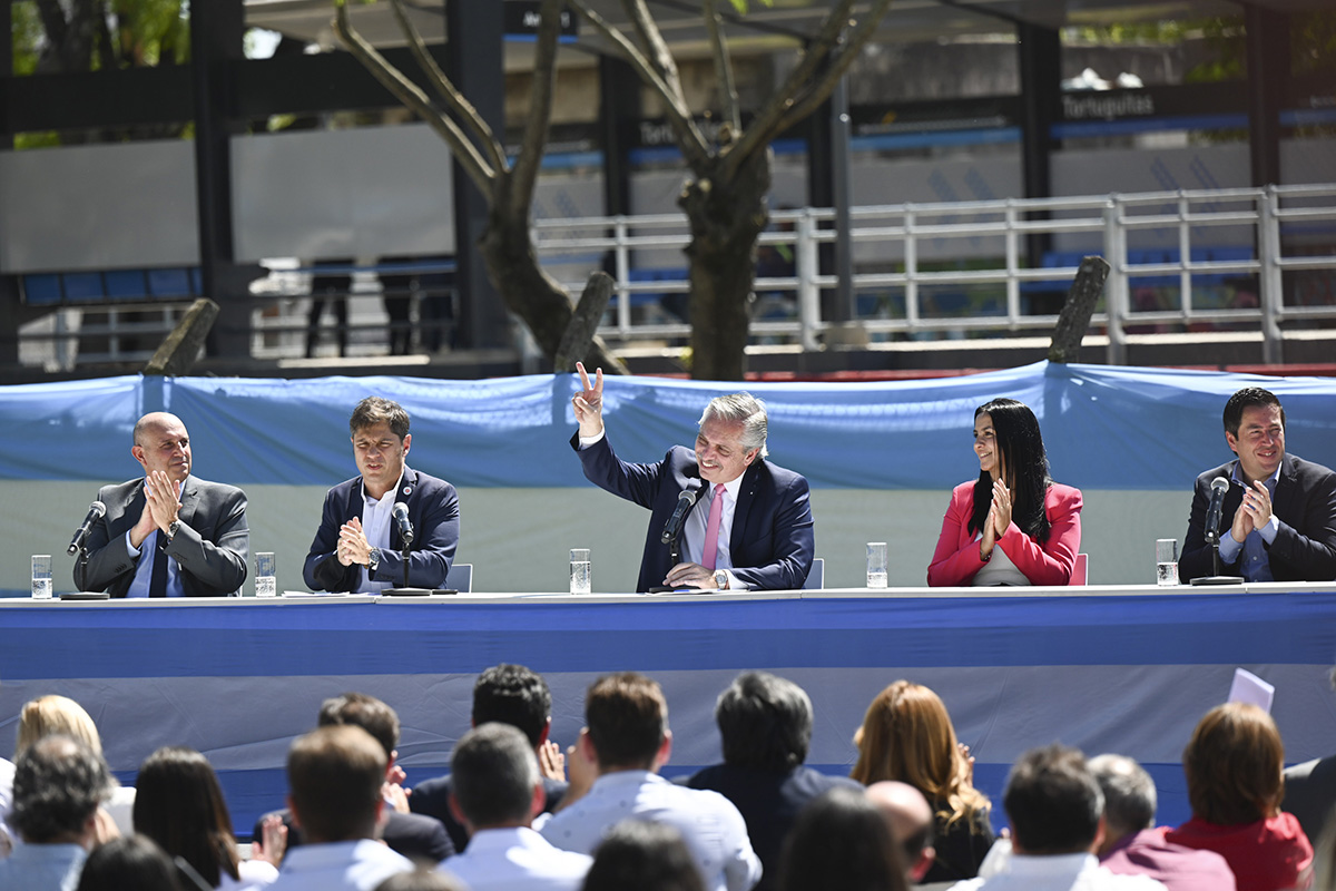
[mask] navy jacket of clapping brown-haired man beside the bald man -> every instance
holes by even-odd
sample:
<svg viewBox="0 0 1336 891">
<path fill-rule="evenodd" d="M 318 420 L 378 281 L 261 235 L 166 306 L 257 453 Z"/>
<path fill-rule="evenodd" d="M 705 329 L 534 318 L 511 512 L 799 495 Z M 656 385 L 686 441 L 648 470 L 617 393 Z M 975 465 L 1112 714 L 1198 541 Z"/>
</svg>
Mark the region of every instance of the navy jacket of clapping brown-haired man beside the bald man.
<svg viewBox="0 0 1336 891">
<path fill-rule="evenodd" d="M 450 564 L 454 562 L 454 549 L 460 544 L 460 500 L 454 494 L 454 486 L 405 465 L 394 501 L 407 505 L 409 522 L 413 524 L 409 585 L 444 588 Z M 339 528 L 353 517 L 361 518 L 365 508 L 362 477 L 353 477 L 326 493 L 321 528 L 302 568 L 307 588 L 357 590 L 362 584 L 362 568 L 345 566 L 334 550 L 338 546 Z M 393 520 L 390 546 L 381 549 L 381 565 L 371 581 L 387 581 L 394 586 L 403 584 L 403 541 Z"/>
</svg>

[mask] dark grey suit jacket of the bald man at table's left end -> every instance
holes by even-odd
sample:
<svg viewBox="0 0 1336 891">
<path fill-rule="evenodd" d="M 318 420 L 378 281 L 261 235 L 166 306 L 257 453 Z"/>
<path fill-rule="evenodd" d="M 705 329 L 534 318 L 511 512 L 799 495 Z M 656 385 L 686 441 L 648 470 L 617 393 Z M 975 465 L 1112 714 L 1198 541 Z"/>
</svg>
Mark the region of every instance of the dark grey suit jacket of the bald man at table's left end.
<svg viewBox="0 0 1336 891">
<path fill-rule="evenodd" d="M 107 513 L 88 532 L 88 560 L 75 561 L 75 584 L 80 590 L 124 597 L 139 565 L 126 549 L 126 533 L 143 513 L 144 481 L 103 486 L 98 500 L 107 505 Z M 239 590 L 250 558 L 246 493 L 236 486 L 186 477 L 176 516 L 180 529 L 167 545 L 167 556 L 180 568 L 186 596 L 226 597 Z M 139 553 L 143 557 L 146 550 L 140 548 Z"/>
</svg>

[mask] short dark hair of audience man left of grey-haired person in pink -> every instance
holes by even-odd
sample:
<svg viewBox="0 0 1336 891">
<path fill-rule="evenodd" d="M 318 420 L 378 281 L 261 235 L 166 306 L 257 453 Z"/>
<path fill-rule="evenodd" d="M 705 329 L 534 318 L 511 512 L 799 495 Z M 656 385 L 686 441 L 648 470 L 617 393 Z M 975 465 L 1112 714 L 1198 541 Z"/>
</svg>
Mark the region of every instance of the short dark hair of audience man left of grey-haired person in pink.
<svg viewBox="0 0 1336 891">
<path fill-rule="evenodd" d="M 1021 756 L 1007 776 L 1002 806 L 1026 854 L 1077 854 L 1094 843 L 1104 793 L 1085 755 L 1054 743 Z"/>
</svg>

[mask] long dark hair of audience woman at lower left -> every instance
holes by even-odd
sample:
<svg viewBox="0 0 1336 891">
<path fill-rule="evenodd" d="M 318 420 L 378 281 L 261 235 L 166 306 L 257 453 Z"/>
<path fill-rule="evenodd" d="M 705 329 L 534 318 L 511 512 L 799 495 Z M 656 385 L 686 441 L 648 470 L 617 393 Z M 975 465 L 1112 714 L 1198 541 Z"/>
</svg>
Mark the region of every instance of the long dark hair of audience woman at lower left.
<svg viewBox="0 0 1336 891">
<path fill-rule="evenodd" d="M 215 888 L 224 874 L 240 879 L 223 789 L 208 759 L 195 749 L 168 745 L 144 760 L 134 816 L 135 832 L 184 858 Z"/>
</svg>

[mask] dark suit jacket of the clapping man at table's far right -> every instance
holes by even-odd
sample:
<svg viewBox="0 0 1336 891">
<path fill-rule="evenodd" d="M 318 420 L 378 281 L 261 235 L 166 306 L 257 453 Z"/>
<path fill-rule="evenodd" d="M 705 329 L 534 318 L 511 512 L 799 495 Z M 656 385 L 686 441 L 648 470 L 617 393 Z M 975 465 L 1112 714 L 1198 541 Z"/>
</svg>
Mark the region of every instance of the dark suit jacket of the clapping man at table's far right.
<svg viewBox="0 0 1336 891">
<path fill-rule="evenodd" d="M 1197 477 L 1192 496 L 1192 516 L 1178 560 L 1178 578 L 1184 582 L 1214 574 L 1212 548 L 1206 544 L 1206 510 L 1210 506 L 1210 481 L 1233 480 L 1237 461 L 1222 464 Z M 1242 504 L 1242 488 L 1230 482 L 1220 512 L 1220 534 L 1224 536 Z M 1336 578 L 1336 473 L 1320 464 L 1287 454 L 1280 464 L 1272 513 L 1279 521 L 1276 541 L 1267 548 L 1267 561 L 1276 581 L 1331 581 Z M 1242 552 L 1238 552 L 1240 556 Z M 1225 564 L 1226 574 L 1234 564 Z"/>
</svg>

